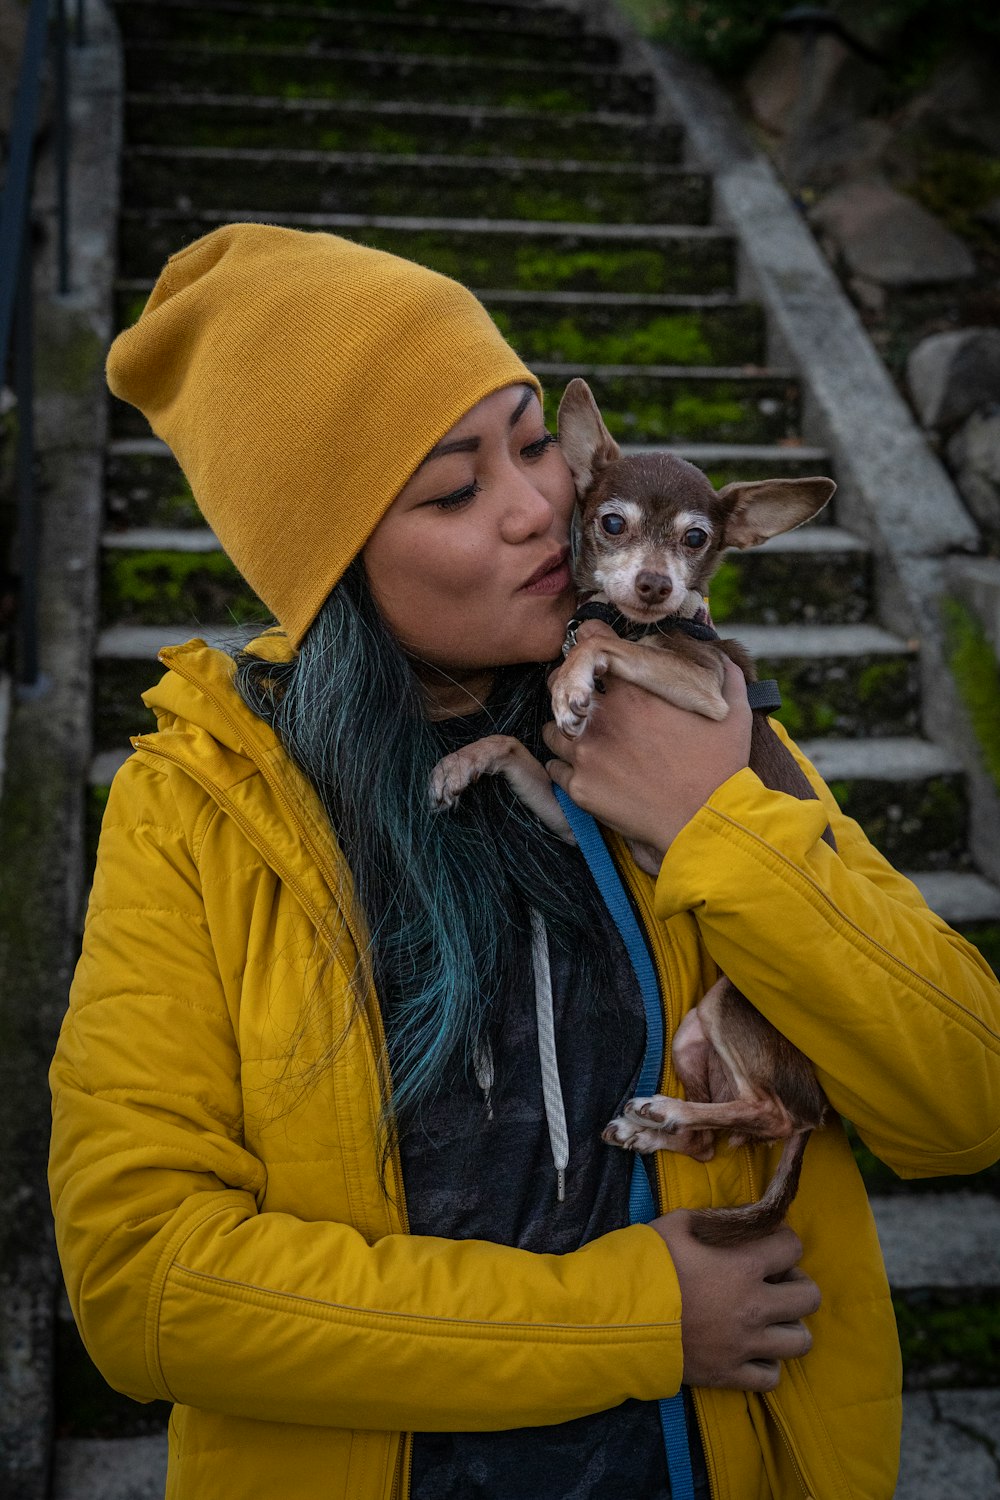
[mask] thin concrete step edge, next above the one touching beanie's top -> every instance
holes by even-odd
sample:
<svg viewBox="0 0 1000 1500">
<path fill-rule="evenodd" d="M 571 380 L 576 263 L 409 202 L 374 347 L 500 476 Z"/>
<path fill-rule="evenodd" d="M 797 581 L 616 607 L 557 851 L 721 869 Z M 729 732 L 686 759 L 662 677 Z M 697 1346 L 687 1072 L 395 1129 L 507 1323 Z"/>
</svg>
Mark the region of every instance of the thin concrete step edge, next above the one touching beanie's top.
<svg viewBox="0 0 1000 1500">
<path fill-rule="evenodd" d="M 183 162 L 232 162 L 234 165 L 279 162 L 285 166 L 297 164 L 325 166 L 376 166 L 379 171 L 393 168 L 426 168 L 427 171 L 456 172 L 519 172 L 535 178 L 540 172 L 580 177 L 589 172 L 595 177 L 676 178 L 684 182 L 699 178 L 708 183 L 709 174 L 691 166 L 660 162 L 607 162 L 574 158 L 547 156 L 456 156 L 433 152 L 318 152 L 291 146 L 130 146 L 123 158 Z"/>
</svg>

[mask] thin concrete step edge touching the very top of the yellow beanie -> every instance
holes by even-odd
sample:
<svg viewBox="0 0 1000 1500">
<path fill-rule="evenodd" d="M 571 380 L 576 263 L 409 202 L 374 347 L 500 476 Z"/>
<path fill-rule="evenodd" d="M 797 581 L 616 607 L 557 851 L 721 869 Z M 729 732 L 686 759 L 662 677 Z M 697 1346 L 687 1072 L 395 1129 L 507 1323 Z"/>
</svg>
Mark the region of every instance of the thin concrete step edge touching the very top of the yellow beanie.
<svg viewBox="0 0 1000 1500">
<path fill-rule="evenodd" d="M 120 218 L 142 225 L 177 224 L 201 219 L 205 224 L 241 224 L 246 218 L 258 224 L 282 224 L 292 228 L 334 230 L 400 230 L 414 234 L 441 230 L 447 234 L 516 234 L 519 238 L 564 238 L 567 234 L 580 240 L 615 242 L 661 242 L 664 244 L 685 240 L 700 243 L 733 242 L 730 230 L 712 224 L 574 224 L 558 219 L 460 219 L 423 218 L 415 214 L 382 213 L 258 213 L 253 208 L 123 208 Z"/>
</svg>

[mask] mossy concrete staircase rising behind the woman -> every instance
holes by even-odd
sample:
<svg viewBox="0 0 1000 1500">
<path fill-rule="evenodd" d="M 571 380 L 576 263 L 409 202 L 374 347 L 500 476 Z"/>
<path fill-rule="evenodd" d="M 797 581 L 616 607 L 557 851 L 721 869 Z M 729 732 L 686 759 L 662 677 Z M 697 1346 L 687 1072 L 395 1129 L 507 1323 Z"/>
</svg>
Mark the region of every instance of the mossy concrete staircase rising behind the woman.
<svg viewBox="0 0 1000 1500">
<path fill-rule="evenodd" d="M 717 484 L 831 472 L 802 428 L 796 372 L 768 368 L 762 309 L 736 294 L 711 178 L 687 164 L 652 80 L 573 10 L 531 0 L 121 0 L 117 12 L 127 87 L 120 326 L 138 316 L 166 255 L 217 224 L 325 228 L 474 286 L 552 393 L 550 414 L 582 374 L 621 441 L 670 446 Z M 918 646 L 882 628 L 873 556 L 835 507 L 727 561 L 714 615 L 762 675 L 778 678 L 780 717 L 846 810 L 996 963 L 1000 891 L 972 867 L 961 768 L 921 738 Z M 93 837 L 129 734 L 148 728 L 138 694 L 156 680 L 157 648 L 193 634 L 235 644 L 262 620 L 168 452 L 115 404 Z M 996 1335 L 1000 1323 L 1000 1179 L 961 1184 L 961 1197 L 948 1184 L 906 1191 L 859 1156 L 886 1226 L 907 1383 L 976 1388 L 967 1408 L 985 1418 L 966 1430 L 981 1422 L 988 1434 L 1000 1410 L 996 1354 L 978 1350 L 976 1330 Z M 942 1254 L 915 1262 L 928 1245 Z M 105 1395 L 72 1323 L 60 1326 L 57 1496 L 160 1492 L 150 1420 L 156 1432 L 162 1413 Z M 922 1485 L 957 1472 L 954 1406 L 951 1395 L 910 1398 L 903 1500 L 949 1492 Z M 966 1485 L 967 1500 L 1000 1496 L 994 1438 L 984 1442 L 961 1438 L 987 1474 Z M 106 1468 L 115 1454 L 118 1479 Z"/>
</svg>

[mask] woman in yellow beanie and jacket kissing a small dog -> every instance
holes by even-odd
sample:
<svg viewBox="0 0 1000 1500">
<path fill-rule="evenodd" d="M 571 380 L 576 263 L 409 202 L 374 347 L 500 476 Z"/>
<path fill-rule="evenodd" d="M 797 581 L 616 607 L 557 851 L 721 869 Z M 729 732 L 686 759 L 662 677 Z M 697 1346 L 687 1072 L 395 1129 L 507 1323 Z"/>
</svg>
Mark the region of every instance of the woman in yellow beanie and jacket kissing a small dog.
<svg viewBox="0 0 1000 1500">
<path fill-rule="evenodd" d="M 667 1035 L 724 966 L 904 1174 L 996 1155 L 978 954 L 811 768 L 819 802 L 757 782 L 741 680 L 721 724 L 619 682 L 579 742 L 544 723 L 571 482 L 454 282 L 229 225 L 168 264 L 109 380 L 282 627 L 235 666 L 163 652 L 52 1065 L 70 1299 L 112 1384 L 177 1402 L 168 1492 L 660 1500 L 655 1402 L 684 1382 L 703 1494 L 888 1500 L 898 1346 L 843 1132 L 810 1144 L 795 1230 L 687 1232 L 760 1191 L 745 1148 L 658 1160 L 661 1215 L 628 1227 L 631 1162 L 598 1138 L 645 1044 L 615 928 L 501 782 L 438 816 L 427 776 L 516 732 L 658 848 L 654 882 L 613 844 Z"/>
</svg>

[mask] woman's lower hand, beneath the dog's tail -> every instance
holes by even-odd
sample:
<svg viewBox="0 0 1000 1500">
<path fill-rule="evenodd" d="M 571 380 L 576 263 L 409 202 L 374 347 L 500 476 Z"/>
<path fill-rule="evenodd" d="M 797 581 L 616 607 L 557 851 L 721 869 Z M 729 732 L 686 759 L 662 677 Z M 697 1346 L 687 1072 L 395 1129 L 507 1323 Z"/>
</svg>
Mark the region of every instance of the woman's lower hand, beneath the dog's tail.
<svg viewBox="0 0 1000 1500">
<path fill-rule="evenodd" d="M 813 1347 L 802 1318 L 820 1305 L 819 1287 L 798 1269 L 798 1234 L 786 1226 L 751 1245 L 720 1250 L 691 1234 L 687 1209 L 654 1220 L 651 1228 L 666 1242 L 681 1284 L 685 1383 L 774 1390 L 781 1362 Z"/>
</svg>

